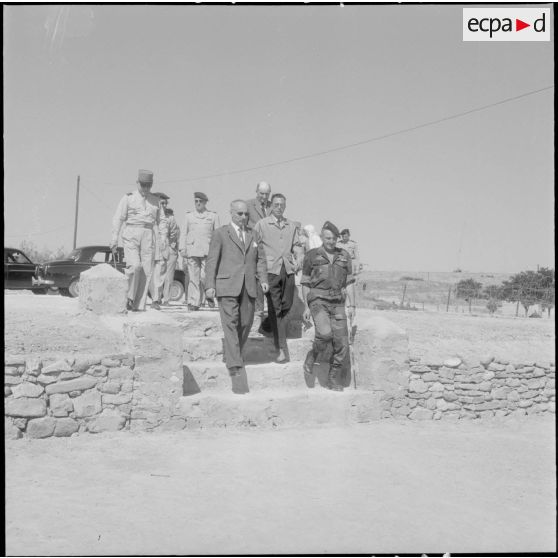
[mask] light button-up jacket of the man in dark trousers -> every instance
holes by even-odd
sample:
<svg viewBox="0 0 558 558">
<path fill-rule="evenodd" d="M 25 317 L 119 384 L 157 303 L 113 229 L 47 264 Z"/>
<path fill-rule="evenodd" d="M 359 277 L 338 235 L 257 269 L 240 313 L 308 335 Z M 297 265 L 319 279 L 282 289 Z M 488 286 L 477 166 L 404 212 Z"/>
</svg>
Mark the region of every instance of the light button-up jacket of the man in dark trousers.
<svg viewBox="0 0 558 558">
<path fill-rule="evenodd" d="M 287 275 L 295 272 L 293 248 L 304 246 L 297 223 L 290 219 L 279 222 L 274 215 L 269 215 L 256 223 L 254 234 L 263 246 L 268 273 L 279 275 L 283 264 Z"/>
</svg>

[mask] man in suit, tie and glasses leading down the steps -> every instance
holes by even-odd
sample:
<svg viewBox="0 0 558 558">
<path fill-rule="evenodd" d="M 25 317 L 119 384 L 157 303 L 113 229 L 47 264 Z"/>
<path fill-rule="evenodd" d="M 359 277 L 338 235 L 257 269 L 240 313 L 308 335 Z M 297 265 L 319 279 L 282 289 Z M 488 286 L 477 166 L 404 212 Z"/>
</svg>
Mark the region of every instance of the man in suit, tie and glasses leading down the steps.
<svg viewBox="0 0 558 558">
<path fill-rule="evenodd" d="M 231 223 L 213 233 L 206 263 L 205 293 L 207 298 L 217 296 L 219 302 L 225 363 L 232 377 L 240 375 L 244 366 L 242 348 L 254 319 L 256 275 L 263 292 L 268 291 L 263 248 L 255 242 L 247 222 L 246 202 L 233 201 Z"/>
</svg>

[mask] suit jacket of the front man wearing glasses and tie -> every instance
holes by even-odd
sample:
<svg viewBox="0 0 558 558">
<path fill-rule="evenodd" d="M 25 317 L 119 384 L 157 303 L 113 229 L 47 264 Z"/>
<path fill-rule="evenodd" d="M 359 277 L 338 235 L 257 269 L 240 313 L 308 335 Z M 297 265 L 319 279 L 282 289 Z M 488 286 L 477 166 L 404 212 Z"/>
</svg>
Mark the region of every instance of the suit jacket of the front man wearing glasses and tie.
<svg viewBox="0 0 558 558">
<path fill-rule="evenodd" d="M 252 230 L 246 230 L 243 249 L 232 225 L 218 228 L 209 245 L 205 288 L 215 289 L 218 297 L 238 296 L 245 283 L 248 295 L 255 298 L 256 274 L 260 283 L 267 283 L 265 254 L 263 247 L 255 242 Z"/>
</svg>

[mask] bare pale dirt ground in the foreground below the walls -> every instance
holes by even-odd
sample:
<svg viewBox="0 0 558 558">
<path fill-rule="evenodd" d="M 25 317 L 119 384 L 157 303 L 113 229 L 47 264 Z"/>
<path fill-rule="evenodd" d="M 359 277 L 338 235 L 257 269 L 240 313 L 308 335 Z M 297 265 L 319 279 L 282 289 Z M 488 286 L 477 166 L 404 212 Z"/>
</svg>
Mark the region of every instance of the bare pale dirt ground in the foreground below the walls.
<svg viewBox="0 0 558 558">
<path fill-rule="evenodd" d="M 552 418 L 6 444 L 8 555 L 556 549 Z"/>
</svg>

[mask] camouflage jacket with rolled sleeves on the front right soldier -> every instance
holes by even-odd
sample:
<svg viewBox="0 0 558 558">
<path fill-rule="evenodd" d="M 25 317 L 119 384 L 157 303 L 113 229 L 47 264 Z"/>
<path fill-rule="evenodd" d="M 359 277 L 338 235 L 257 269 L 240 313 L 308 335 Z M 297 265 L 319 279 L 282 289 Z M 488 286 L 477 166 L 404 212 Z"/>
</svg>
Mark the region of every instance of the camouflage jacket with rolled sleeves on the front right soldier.
<svg viewBox="0 0 558 558">
<path fill-rule="evenodd" d="M 304 256 L 300 283 L 310 288 L 308 303 L 316 298 L 340 300 L 342 289 L 353 282 L 351 256 L 345 250 L 336 247 L 333 254 L 328 254 L 320 246 Z"/>
</svg>

